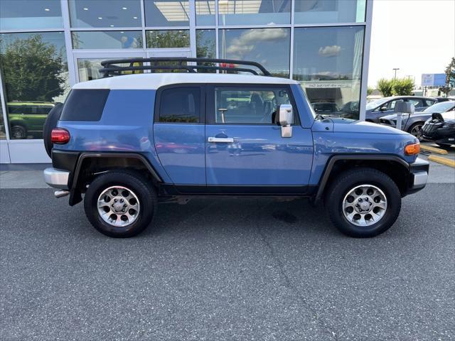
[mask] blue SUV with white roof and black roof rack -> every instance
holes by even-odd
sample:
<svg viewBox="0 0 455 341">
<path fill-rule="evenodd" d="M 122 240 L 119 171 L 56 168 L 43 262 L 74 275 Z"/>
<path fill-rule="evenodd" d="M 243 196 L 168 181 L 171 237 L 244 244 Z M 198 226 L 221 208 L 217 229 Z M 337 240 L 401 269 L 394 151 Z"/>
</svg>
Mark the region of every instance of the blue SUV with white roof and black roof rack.
<svg viewBox="0 0 455 341">
<path fill-rule="evenodd" d="M 50 113 L 53 168 L 44 176 L 71 206 L 84 195 L 88 220 L 110 237 L 139 234 L 159 202 L 226 195 L 308 197 L 325 203 L 341 232 L 373 237 L 395 222 L 401 198 L 427 183 L 414 136 L 316 115 L 298 82 L 257 63 L 102 65 L 104 78 L 78 83 Z"/>
</svg>

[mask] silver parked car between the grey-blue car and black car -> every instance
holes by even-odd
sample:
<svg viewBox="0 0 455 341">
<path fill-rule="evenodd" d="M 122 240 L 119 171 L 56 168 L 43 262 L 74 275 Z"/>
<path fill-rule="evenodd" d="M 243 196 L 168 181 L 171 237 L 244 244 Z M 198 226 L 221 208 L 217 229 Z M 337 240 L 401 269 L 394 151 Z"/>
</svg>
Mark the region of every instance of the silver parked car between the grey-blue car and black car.
<svg viewBox="0 0 455 341">
<path fill-rule="evenodd" d="M 455 101 L 446 101 L 433 104 L 431 107 L 424 109 L 423 112 L 415 112 L 414 114 L 402 114 L 401 130 L 420 137 L 422 126 L 427 119 L 432 118 L 434 113 L 449 112 L 455 109 Z M 387 115 L 380 118 L 380 124 L 387 126 L 397 126 L 397 114 Z"/>
</svg>

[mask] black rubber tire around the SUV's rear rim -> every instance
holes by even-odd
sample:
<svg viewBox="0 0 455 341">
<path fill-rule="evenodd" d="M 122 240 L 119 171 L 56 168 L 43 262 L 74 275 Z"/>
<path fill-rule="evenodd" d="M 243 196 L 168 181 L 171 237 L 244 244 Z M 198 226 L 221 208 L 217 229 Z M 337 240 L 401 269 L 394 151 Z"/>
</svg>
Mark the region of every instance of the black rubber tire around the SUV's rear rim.
<svg viewBox="0 0 455 341">
<path fill-rule="evenodd" d="M 139 202 L 137 218 L 131 224 L 127 224 L 127 226 L 113 226 L 105 222 L 98 212 L 98 198 L 103 191 L 112 186 L 127 188 L 136 195 Z M 114 199 L 112 198 L 112 200 Z M 110 203 L 111 201 L 109 201 Z M 85 215 L 87 215 L 88 220 L 95 229 L 109 237 L 126 238 L 141 233 L 151 223 L 156 207 L 157 199 L 153 186 L 144 177 L 132 171 L 110 171 L 97 176 L 87 188 L 84 198 Z M 110 209 L 109 205 L 107 205 L 107 208 Z M 119 213 L 118 215 L 121 214 Z"/>
</svg>

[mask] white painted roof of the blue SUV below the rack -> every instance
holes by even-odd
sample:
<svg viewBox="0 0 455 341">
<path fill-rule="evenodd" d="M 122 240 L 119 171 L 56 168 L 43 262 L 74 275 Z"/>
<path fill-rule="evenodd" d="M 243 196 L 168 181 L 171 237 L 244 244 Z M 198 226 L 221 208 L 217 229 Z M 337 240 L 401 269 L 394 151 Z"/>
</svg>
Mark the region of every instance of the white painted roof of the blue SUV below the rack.
<svg viewBox="0 0 455 341">
<path fill-rule="evenodd" d="M 299 84 L 282 77 L 225 73 L 141 73 L 80 82 L 73 89 L 156 90 L 164 85 L 181 83 Z"/>
</svg>

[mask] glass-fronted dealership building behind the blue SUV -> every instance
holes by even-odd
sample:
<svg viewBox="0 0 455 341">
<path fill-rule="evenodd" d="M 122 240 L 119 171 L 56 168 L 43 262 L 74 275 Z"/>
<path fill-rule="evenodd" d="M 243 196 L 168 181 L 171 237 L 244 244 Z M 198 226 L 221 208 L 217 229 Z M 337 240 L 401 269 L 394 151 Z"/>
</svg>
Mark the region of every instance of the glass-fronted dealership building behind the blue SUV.
<svg viewBox="0 0 455 341">
<path fill-rule="evenodd" d="M 50 162 L 46 115 L 112 58 L 254 60 L 314 105 L 363 119 L 372 11 L 373 0 L 0 0 L 0 162 Z"/>
</svg>

